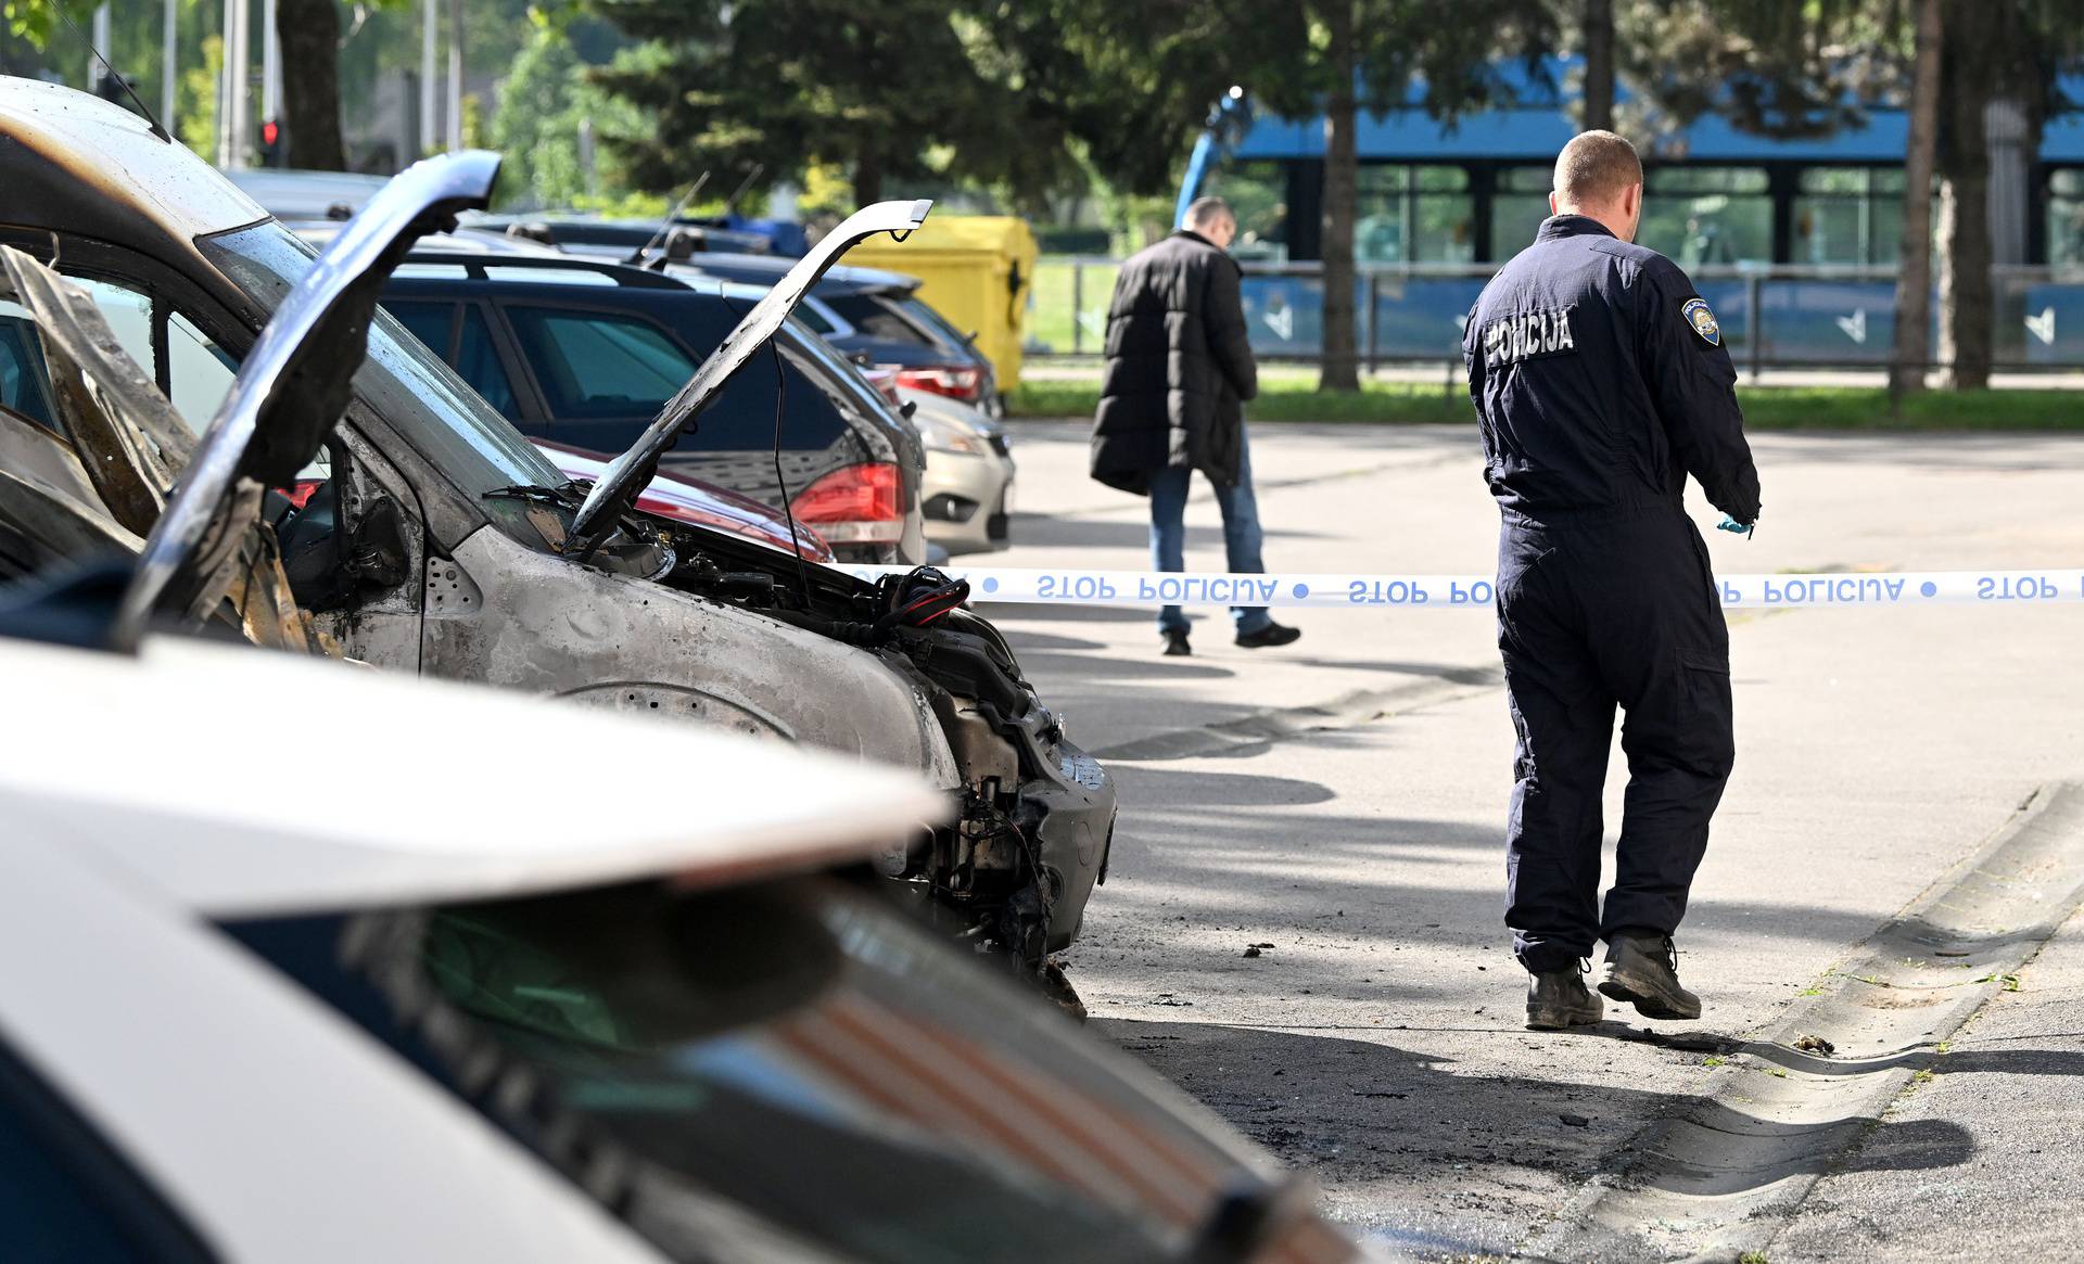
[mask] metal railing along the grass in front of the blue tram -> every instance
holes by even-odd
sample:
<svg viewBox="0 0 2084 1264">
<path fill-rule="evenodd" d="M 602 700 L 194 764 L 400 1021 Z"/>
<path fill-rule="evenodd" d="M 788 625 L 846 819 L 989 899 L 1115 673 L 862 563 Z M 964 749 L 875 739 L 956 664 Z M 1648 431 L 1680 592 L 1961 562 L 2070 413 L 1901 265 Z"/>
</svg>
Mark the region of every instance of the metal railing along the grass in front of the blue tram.
<svg viewBox="0 0 2084 1264">
<path fill-rule="evenodd" d="M 1096 356 L 1119 258 L 1052 256 L 1036 269 L 1027 310 L 1029 356 Z M 1355 279 L 1355 339 L 1373 371 L 1461 358 L 1461 323 L 1496 264 L 1363 267 Z M 1884 369 L 1894 346 L 1896 273 L 1844 264 L 1713 264 L 1690 271 L 1715 310 L 1730 354 L 1761 369 Z M 2084 269 L 1999 267 L 1992 369 L 2084 369 Z M 1267 360 L 1323 358 L 1323 267 L 1246 262 L 1244 308 L 1252 350 Z M 1932 298 L 1938 348 L 1938 296 Z M 1942 364 L 1928 364 L 1942 366 Z"/>
</svg>

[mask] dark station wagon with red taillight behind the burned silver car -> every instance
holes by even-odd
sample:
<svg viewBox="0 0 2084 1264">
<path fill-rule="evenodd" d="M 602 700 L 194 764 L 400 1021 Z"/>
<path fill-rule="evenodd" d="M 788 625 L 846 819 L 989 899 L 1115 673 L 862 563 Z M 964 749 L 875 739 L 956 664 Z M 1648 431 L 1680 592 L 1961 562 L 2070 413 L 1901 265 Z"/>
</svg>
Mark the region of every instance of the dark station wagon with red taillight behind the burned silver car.
<svg viewBox="0 0 2084 1264">
<path fill-rule="evenodd" d="M 756 300 L 588 258 L 444 248 L 415 252 L 383 296 L 521 433 L 602 454 L 636 444 Z M 923 464 L 917 429 L 796 321 L 663 462 L 788 504 L 850 562 L 925 560 Z"/>
</svg>

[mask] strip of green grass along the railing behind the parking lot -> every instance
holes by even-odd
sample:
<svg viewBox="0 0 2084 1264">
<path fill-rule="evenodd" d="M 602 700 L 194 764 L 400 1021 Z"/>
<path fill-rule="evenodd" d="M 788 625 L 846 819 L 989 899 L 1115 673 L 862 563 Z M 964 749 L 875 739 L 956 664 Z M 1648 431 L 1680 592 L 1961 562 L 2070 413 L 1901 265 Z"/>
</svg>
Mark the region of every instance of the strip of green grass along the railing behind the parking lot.
<svg viewBox="0 0 2084 1264">
<path fill-rule="evenodd" d="M 1040 277 L 1038 277 L 1040 281 Z M 1753 431 L 2084 431 L 2084 396 L 2059 389 L 1921 391 L 1890 416 L 1880 387 L 1738 387 Z M 1092 416 L 1098 377 L 1023 381 L 1013 416 Z M 1459 387 L 1440 381 L 1369 381 L 1359 391 L 1319 391 L 1309 371 L 1267 373 L 1250 421 L 1355 421 L 1386 425 L 1469 423 Z"/>
</svg>

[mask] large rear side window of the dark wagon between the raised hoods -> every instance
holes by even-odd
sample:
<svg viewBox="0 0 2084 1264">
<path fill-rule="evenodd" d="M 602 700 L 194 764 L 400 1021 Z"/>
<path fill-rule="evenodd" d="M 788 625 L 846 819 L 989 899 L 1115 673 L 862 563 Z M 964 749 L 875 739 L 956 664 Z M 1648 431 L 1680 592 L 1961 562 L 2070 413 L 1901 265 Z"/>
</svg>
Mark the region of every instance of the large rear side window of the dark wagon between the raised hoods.
<svg viewBox="0 0 2084 1264">
<path fill-rule="evenodd" d="M 508 317 L 556 416 L 656 412 L 694 377 L 694 360 L 634 317 L 529 306 Z"/>
</svg>

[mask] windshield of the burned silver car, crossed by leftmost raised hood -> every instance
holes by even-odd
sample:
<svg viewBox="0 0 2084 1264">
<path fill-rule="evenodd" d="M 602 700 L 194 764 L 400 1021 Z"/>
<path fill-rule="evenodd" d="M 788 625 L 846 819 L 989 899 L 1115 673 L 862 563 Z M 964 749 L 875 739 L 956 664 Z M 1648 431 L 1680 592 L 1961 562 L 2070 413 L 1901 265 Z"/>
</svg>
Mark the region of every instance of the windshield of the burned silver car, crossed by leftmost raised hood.
<svg viewBox="0 0 2084 1264">
<path fill-rule="evenodd" d="M 275 221 L 200 237 L 196 246 L 269 312 L 315 258 Z M 354 373 L 354 394 L 473 498 L 565 481 L 513 423 L 383 310 L 369 325 L 369 358 Z"/>
</svg>

